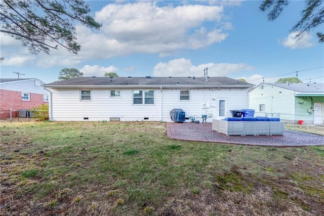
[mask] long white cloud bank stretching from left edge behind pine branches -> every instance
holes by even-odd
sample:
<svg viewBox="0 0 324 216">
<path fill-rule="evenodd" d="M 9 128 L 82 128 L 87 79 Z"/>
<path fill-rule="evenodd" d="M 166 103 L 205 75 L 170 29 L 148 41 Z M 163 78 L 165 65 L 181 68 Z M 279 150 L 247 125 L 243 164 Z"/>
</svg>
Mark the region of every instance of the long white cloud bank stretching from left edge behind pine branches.
<svg viewBox="0 0 324 216">
<path fill-rule="evenodd" d="M 178 50 L 206 48 L 228 36 L 225 31 L 231 28 L 231 24 L 223 21 L 223 7 L 222 4 L 177 7 L 168 4 L 161 7 L 151 1 L 115 2 L 95 13 L 95 19 L 102 24 L 100 30 L 75 26 L 77 42 L 81 45 L 78 55 L 59 46 L 59 50 L 51 50 L 50 55 L 39 53 L 34 56 L 22 47 L 20 41 L 1 34 L 2 56 L 6 58 L 5 54 L 9 55 L 7 58 L 12 60 L 6 64 L 10 65 L 32 64 L 50 68 L 73 67 L 85 60 L 138 53 L 164 57 Z M 206 23 L 209 25 L 202 27 Z M 24 60 L 27 55 L 33 58 Z"/>
</svg>

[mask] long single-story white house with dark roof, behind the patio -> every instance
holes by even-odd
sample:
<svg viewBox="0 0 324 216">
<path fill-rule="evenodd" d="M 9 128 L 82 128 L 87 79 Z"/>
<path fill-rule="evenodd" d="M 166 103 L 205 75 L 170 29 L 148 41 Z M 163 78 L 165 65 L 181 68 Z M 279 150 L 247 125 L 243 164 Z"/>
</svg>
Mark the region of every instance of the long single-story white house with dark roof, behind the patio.
<svg viewBox="0 0 324 216">
<path fill-rule="evenodd" d="M 44 85 L 54 121 L 171 121 L 170 111 L 179 108 L 197 120 L 207 114 L 209 122 L 248 108 L 253 86 L 228 77 L 150 76 L 77 77 Z"/>
</svg>

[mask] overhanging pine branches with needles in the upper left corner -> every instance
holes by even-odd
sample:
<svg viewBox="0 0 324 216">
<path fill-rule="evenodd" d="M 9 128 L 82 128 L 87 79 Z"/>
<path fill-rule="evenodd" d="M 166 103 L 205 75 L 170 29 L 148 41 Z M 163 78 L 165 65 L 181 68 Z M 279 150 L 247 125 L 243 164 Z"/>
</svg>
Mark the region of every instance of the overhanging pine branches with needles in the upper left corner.
<svg viewBox="0 0 324 216">
<path fill-rule="evenodd" d="M 77 54 L 75 22 L 100 28 L 83 0 L 2 0 L 0 2 L 1 32 L 22 41 L 32 54 L 60 45 Z"/>
</svg>

